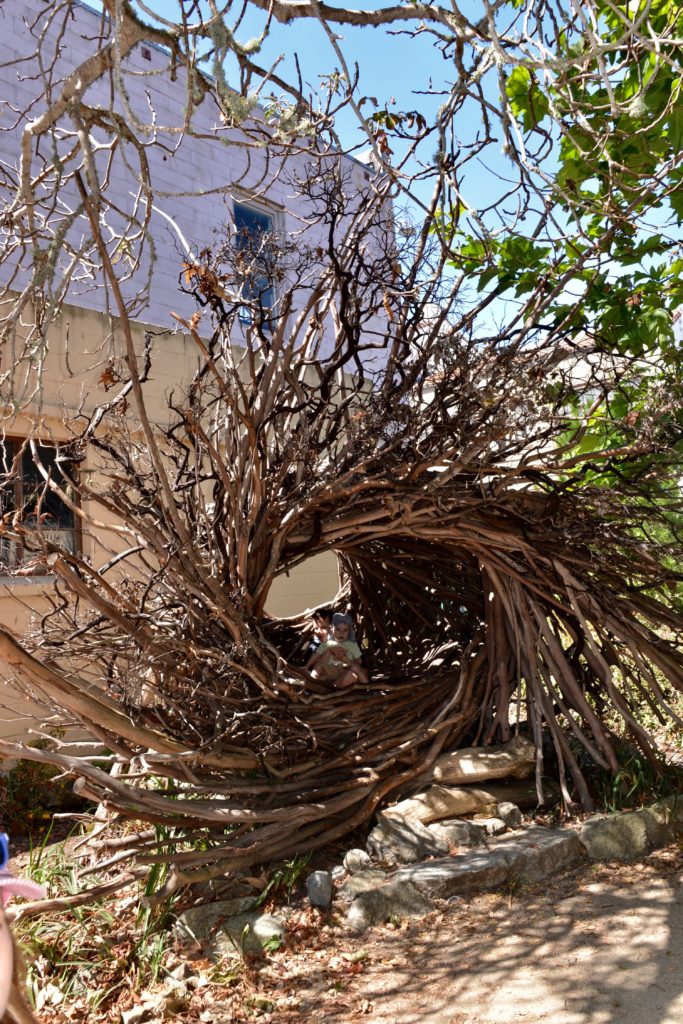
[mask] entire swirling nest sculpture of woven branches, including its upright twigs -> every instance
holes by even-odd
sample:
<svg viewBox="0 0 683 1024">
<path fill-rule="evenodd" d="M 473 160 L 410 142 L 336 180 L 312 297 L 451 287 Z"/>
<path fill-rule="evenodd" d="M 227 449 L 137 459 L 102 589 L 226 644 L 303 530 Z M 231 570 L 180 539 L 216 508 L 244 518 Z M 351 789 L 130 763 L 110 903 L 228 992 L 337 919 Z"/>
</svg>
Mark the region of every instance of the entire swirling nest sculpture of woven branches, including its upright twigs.
<svg viewBox="0 0 683 1024">
<path fill-rule="evenodd" d="M 589 409 L 633 367 L 588 339 L 456 330 L 440 244 L 410 242 L 438 250 L 426 287 L 380 229 L 359 217 L 323 264 L 263 239 L 188 259 L 198 312 L 179 326 L 198 370 L 161 427 L 144 392 L 163 338 L 136 351 L 122 314 L 108 401 L 42 490 L 84 530 L 117 524 L 100 563 L 5 517 L 57 582 L 31 649 L 4 632 L 3 653 L 110 752 L 23 753 L 147 823 L 112 847 L 119 884 L 170 862 L 168 892 L 302 854 L 414 792 L 440 754 L 520 728 L 540 794 L 554 749 L 567 805 L 591 806 L 587 764 L 617 771 L 610 719 L 655 762 L 634 709 L 667 716 L 683 686 L 671 507 L 647 475 L 671 451 L 666 396 L 616 442 L 582 447 L 570 399 Z M 275 273 L 299 283 L 276 314 L 244 287 Z M 96 473 L 79 472 L 86 457 Z M 337 557 L 330 598 L 355 616 L 368 685 L 307 677 L 308 617 L 268 613 L 273 581 L 321 552 Z"/>
</svg>

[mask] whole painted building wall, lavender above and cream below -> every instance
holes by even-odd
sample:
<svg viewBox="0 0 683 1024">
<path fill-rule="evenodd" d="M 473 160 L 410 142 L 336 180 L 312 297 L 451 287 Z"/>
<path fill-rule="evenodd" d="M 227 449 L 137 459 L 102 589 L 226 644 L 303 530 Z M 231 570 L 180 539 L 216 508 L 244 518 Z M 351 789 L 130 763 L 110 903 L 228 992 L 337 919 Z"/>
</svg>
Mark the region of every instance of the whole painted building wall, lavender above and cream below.
<svg viewBox="0 0 683 1024">
<path fill-rule="evenodd" d="M 54 94 L 61 88 L 62 76 L 73 70 L 79 61 L 87 59 L 99 48 L 98 33 L 101 31 L 100 17 L 96 12 L 77 5 L 70 18 L 63 24 L 59 19 L 49 24 L 47 14 L 50 6 L 38 11 L 34 0 L 4 0 L 0 3 L 0 31 L 3 32 L 3 67 L 0 69 L 0 158 L 9 169 L 4 185 L 5 198 L 13 196 L 11 169 L 17 173 L 19 159 L 20 131 L 24 121 L 16 112 L 31 112 L 31 117 L 39 117 L 45 108 L 45 89 Z M 41 17 L 43 22 L 41 23 Z M 34 33 L 27 26 L 36 20 Z M 41 29 L 42 25 L 42 29 Z M 43 31 L 44 30 L 44 31 Z M 48 82 L 45 76 L 29 74 L 25 63 L 33 59 L 36 38 L 42 32 L 43 56 L 50 62 L 54 59 L 54 76 Z M 185 103 L 185 83 L 182 76 L 172 81 L 166 74 L 168 55 L 157 47 L 145 47 L 142 52 L 137 47 L 127 58 L 124 68 L 125 88 L 132 108 L 142 120 L 152 117 L 154 110 L 155 132 L 159 125 L 174 126 L 178 123 Z M 140 77 L 144 76 L 144 77 Z M 87 102 L 103 109 L 112 102 L 109 83 L 105 78 L 95 81 L 85 94 Z M 120 105 L 120 100 L 116 100 Z M 258 112 L 255 112 L 258 117 Z M 146 229 L 145 245 L 134 250 L 139 259 L 139 267 L 133 281 L 122 287 L 128 296 L 141 289 L 137 316 L 140 323 L 134 326 L 135 346 L 141 351 L 145 330 L 154 335 L 153 370 L 151 380 L 144 385 L 145 403 L 150 419 L 164 423 L 167 417 L 167 396 L 188 380 L 198 362 L 197 350 L 190 338 L 175 330 L 176 322 L 172 313 L 188 317 L 196 310 L 191 296 L 178 288 L 178 274 L 182 258 L 188 252 L 199 251 L 202 246 L 213 244 L 216 232 L 229 229 L 232 218 L 232 204 L 236 199 L 251 201 L 264 207 L 276 219 L 278 226 L 285 234 L 296 236 L 314 247 L 318 234 L 323 244 L 327 238 L 326 228 L 316 225 L 310 217 L 310 205 L 295 187 L 297 178 L 307 175 L 309 157 L 305 150 L 278 156 L 257 140 L 256 144 L 245 145 L 245 133 L 240 128 L 227 128 L 220 119 L 220 112 L 210 96 L 195 111 L 196 134 L 177 134 L 160 128 L 160 139 L 165 146 L 147 145 L 145 156 L 150 175 L 155 188 L 155 203 L 151 221 Z M 96 127 L 92 137 L 101 143 L 104 136 Z M 57 131 L 52 139 L 55 153 L 67 159 L 72 141 Z M 128 157 L 124 147 L 102 151 L 101 160 L 106 162 L 108 197 L 115 207 L 130 214 L 136 210 L 139 215 L 139 182 L 131 174 Z M 46 147 L 45 152 L 48 150 Z M 49 151 L 50 154 L 52 151 Z M 51 157 L 50 157 L 51 159 Z M 335 164 L 343 165 L 345 201 L 362 207 L 362 191 L 372 185 L 374 172 L 356 161 L 333 155 Z M 98 165 L 99 166 L 99 165 Z M 103 167 L 103 164 L 102 164 Z M 35 168 L 34 168 L 35 170 Z M 10 195 L 11 194 L 11 195 Z M 80 195 L 73 182 L 65 181 L 59 186 L 59 216 L 67 209 L 76 210 L 80 205 Z M 387 210 L 388 210 L 387 206 Z M 59 224 L 59 219 L 55 221 Z M 222 226 L 221 226 L 222 225 Z M 54 226 L 54 225 L 53 225 Z M 80 238 L 87 224 L 83 217 L 77 218 L 73 231 Z M 317 232 L 317 233 L 316 233 Z M 154 260 L 150 241 L 154 242 Z M 65 269 L 71 260 L 63 255 L 57 270 Z M 29 275 L 30 264 L 19 267 L 16 260 L 0 263 L 0 287 L 11 282 L 12 288 L 24 288 Z M 0 418 L 2 429 L 8 437 L 24 437 L 30 432 L 44 441 L 66 440 L 72 425 L 81 414 L 88 415 L 101 401 L 116 393 L 116 388 L 108 392 L 102 376 L 108 368 L 116 369 L 117 360 L 123 354 L 120 330 L 102 310 L 111 303 L 101 274 L 96 268 L 92 272 L 81 273 L 78 284 L 72 283 L 68 293 L 70 304 L 49 330 L 43 351 L 39 358 L 25 360 L 22 371 L 25 376 L 14 381 L 15 391 Z M 125 270 L 125 267 L 124 267 Z M 317 269 L 308 270 L 314 280 Z M 122 271 L 122 275 L 126 274 Z M 58 281 L 58 273 L 55 281 Z M 144 284 L 144 288 L 142 288 Z M 294 283 L 293 283 L 294 284 Z M 282 286 L 284 287 L 284 286 Z M 56 284 L 55 284 L 56 289 Z M 0 294 L 0 321 L 9 315 L 15 296 Z M 32 323 L 30 309 L 23 313 L 26 325 Z M 378 321 L 381 334 L 383 321 Z M 20 350 L 26 330 L 17 331 L 11 340 L 16 351 Z M 326 335 L 327 338 L 327 335 Z M 239 339 L 237 339 L 239 343 Z M 378 358 L 384 358 L 384 349 L 378 349 Z M 370 361 L 372 353 L 368 354 Z M 3 353 L 6 366 L 6 352 Z M 27 371 L 27 367 L 30 368 Z M 0 398 L 0 401 L 3 399 Z M 11 410 L 25 410 L 14 414 Z M 84 472 L 94 472 L 95 468 L 83 467 Z M 87 511 L 87 510 L 86 510 Z M 100 530 L 98 535 L 84 529 L 82 537 L 84 552 L 95 563 L 104 557 L 108 547 L 116 548 L 116 538 Z M 332 553 L 326 553 L 299 565 L 289 575 L 280 578 L 271 591 L 267 610 L 273 614 L 295 614 L 307 607 L 330 601 L 337 591 L 337 565 Z M 0 578 L 0 621 L 22 635 L 36 616 L 47 606 L 47 595 L 52 586 L 49 580 L 8 581 Z M 0 667 L 1 668 L 1 667 Z M 0 685 L 0 735 L 26 731 L 26 723 L 16 719 L 17 708 L 26 711 L 15 694 Z"/>
</svg>

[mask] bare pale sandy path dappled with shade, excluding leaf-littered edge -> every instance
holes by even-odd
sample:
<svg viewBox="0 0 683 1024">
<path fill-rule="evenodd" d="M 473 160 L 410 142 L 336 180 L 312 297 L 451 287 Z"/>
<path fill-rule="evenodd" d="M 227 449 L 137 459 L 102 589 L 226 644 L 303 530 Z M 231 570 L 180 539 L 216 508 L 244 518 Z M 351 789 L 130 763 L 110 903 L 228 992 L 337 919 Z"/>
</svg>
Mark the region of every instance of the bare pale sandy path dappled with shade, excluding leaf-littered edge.
<svg viewBox="0 0 683 1024">
<path fill-rule="evenodd" d="M 389 933 L 359 986 L 366 1020 L 680 1024 L 681 878 L 634 865 L 610 882 L 603 866 L 568 897 L 479 897 L 471 916 Z"/>
</svg>

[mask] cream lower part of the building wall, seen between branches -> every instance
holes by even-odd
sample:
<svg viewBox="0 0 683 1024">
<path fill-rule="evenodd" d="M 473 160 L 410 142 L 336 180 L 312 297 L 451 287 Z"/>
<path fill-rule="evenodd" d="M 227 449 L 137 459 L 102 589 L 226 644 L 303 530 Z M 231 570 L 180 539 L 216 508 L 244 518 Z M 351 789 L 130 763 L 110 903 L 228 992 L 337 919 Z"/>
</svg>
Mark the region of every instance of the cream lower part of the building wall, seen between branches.
<svg viewBox="0 0 683 1024">
<path fill-rule="evenodd" d="M 30 319 L 30 317 L 29 317 Z M 145 325 L 133 325 L 135 347 L 141 351 Z M 176 394 L 188 381 L 198 365 L 197 349 L 182 333 L 155 332 L 153 369 L 144 385 L 145 408 L 153 423 L 162 424 L 168 417 L 168 395 Z M 102 374 L 123 353 L 119 328 L 90 309 L 66 306 L 51 329 L 40 371 L 26 378 L 24 396 L 33 395 L 20 414 L 5 409 L 1 416 L 5 436 L 25 437 L 33 433 L 40 440 L 65 441 L 78 427 L 77 415 L 88 415 L 116 388 L 105 391 Z M 83 422 L 81 420 L 80 427 Z M 91 473 L 91 485 L 97 469 L 87 463 L 79 472 Z M 93 564 L 101 564 L 120 550 L 116 532 L 105 528 L 102 511 L 97 516 L 103 526 L 92 529 L 88 506 L 84 505 L 85 523 L 81 544 Z M 114 520 L 112 520 L 113 522 Z M 0 575 L 0 622 L 22 637 L 49 607 L 52 578 L 11 579 Z M 306 608 L 330 601 L 338 589 L 337 562 L 332 552 L 318 555 L 279 578 L 271 590 L 266 610 L 274 615 L 294 615 Z M 41 725 L 35 709 L 7 682 L 8 667 L 0 662 L 0 737 L 26 738 Z M 43 723 L 44 724 L 44 723 Z"/>
</svg>

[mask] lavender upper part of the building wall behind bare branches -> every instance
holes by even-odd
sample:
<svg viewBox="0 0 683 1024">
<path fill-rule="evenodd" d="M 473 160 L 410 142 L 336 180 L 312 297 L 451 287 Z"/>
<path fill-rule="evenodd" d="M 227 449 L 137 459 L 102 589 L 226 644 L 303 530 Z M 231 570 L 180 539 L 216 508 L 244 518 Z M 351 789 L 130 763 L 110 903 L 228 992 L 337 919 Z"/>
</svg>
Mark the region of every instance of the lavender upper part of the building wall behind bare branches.
<svg viewBox="0 0 683 1024">
<path fill-rule="evenodd" d="M 101 31 L 102 22 L 98 13 L 85 5 L 75 5 L 74 18 L 68 24 L 63 38 L 58 39 L 62 22 L 59 18 L 48 25 L 50 12 L 51 4 L 41 3 L 40 0 L 4 0 L 0 5 L 3 40 L 0 129 L 5 129 L 0 132 L 0 158 L 9 169 L 4 185 L 0 184 L 3 199 L 12 193 L 18 170 L 20 129 L 27 119 L 22 118 L 17 124 L 17 112 L 30 111 L 29 117 L 36 117 L 45 109 L 45 83 L 35 78 L 35 66 L 26 62 L 35 51 L 36 35 L 39 32 L 44 34 L 44 62 L 49 61 L 57 48 L 49 89 L 52 99 L 59 94 L 65 77 L 97 49 L 93 37 Z M 33 23 L 36 24 L 31 31 Z M 150 59 L 144 58 L 143 50 Z M 283 160 L 271 147 L 257 144 L 256 138 L 249 144 L 249 126 L 246 126 L 247 131 L 227 129 L 211 96 L 206 96 L 193 112 L 194 134 L 178 133 L 186 108 L 186 82 L 183 74 L 178 74 L 175 82 L 171 81 L 168 61 L 168 54 L 152 45 L 137 46 L 125 61 L 123 85 L 130 106 L 145 125 L 156 126 L 154 134 L 145 135 L 131 125 L 144 146 L 150 165 L 155 194 L 151 234 L 157 253 L 154 265 L 151 265 L 148 250 L 142 250 L 142 265 L 134 283 L 124 287 L 127 296 L 132 297 L 142 286 L 146 274 L 151 273 L 148 295 L 135 308 L 135 316 L 143 323 L 174 328 L 176 322 L 171 317 L 171 311 L 187 317 L 196 309 L 193 298 L 183 295 L 178 288 L 181 261 L 185 255 L 181 239 L 195 252 L 204 246 L 211 246 L 220 236 L 223 225 L 231 220 L 234 198 L 255 199 L 276 211 L 286 233 L 301 231 L 311 210 L 297 196 L 294 185 L 296 176 L 306 173 L 308 160 L 305 154 L 290 153 Z M 108 111 L 112 102 L 109 76 L 93 83 L 86 90 L 84 100 L 92 108 Z M 115 109 L 130 123 L 129 112 L 120 97 L 115 102 Z M 258 113 L 255 112 L 256 117 Z M 55 137 L 46 135 L 41 140 L 41 157 L 46 166 L 52 160 L 52 144 L 61 155 L 73 144 L 73 138 L 63 136 L 63 124 L 62 119 Z M 7 131 L 9 128 L 12 130 Z M 91 128 L 90 134 L 94 143 L 109 141 L 96 125 Z M 105 153 L 99 155 L 100 173 L 104 170 L 108 156 Z M 128 167 L 125 158 L 129 161 Z M 127 214 L 134 212 L 137 206 L 141 215 L 145 208 L 140 198 L 139 181 L 131 171 L 131 166 L 134 168 L 138 159 L 134 146 L 128 144 L 119 146 L 111 162 L 110 185 L 105 195 Z M 343 162 L 349 199 L 353 200 L 358 190 L 369 183 L 371 173 L 355 161 L 343 158 Z M 34 163 L 34 171 L 39 166 L 39 163 Z M 59 200 L 65 211 L 74 210 L 79 203 L 79 197 L 71 185 L 61 188 Z M 113 227 L 120 226 L 115 213 L 108 214 L 108 217 Z M 7 228 L 3 230 L 6 238 Z M 82 231 L 88 233 L 85 219 L 74 227 L 71 237 L 76 239 Z M 314 244 L 315 228 L 305 231 L 304 237 Z M 136 251 L 139 252 L 139 248 Z M 8 270 L 7 264 L 0 267 L 0 282 L 7 281 Z M 100 311 L 108 301 L 102 294 L 101 282 L 91 280 L 75 284 L 68 298 L 77 305 Z M 111 297 L 109 301 L 112 301 Z"/>
</svg>

